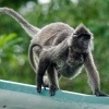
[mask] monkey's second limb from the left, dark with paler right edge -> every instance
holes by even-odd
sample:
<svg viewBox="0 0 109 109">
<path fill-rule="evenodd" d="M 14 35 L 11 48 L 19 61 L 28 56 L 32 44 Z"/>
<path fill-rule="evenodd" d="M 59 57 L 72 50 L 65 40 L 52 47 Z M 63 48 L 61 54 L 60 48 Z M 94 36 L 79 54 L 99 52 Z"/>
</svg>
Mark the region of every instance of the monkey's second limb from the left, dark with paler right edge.
<svg viewBox="0 0 109 109">
<path fill-rule="evenodd" d="M 58 74 L 55 71 L 53 64 L 50 64 L 47 69 L 48 78 L 49 78 L 49 94 L 50 96 L 55 96 L 56 90 L 59 89 L 59 83 L 58 83 Z"/>
</svg>

